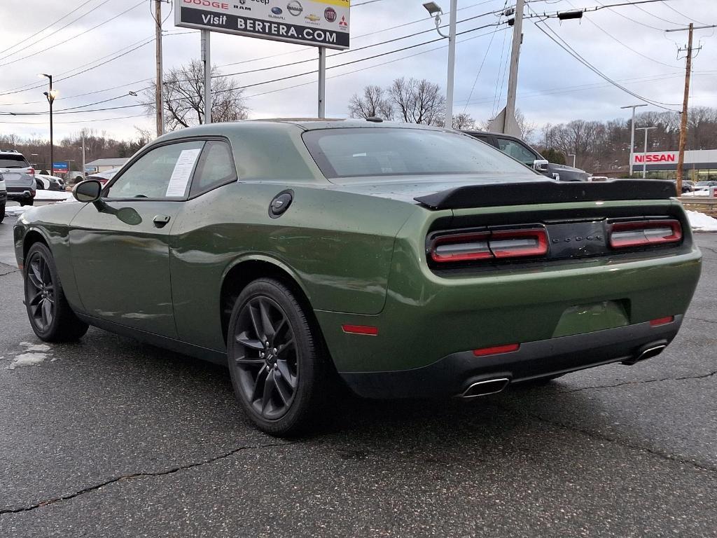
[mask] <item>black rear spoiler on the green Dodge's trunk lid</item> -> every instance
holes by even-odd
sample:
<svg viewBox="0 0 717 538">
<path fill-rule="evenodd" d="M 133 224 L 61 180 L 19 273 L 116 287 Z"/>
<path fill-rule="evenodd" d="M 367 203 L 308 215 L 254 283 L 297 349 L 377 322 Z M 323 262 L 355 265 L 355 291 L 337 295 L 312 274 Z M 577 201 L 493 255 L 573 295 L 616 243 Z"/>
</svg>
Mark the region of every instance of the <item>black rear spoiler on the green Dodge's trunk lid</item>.
<svg viewBox="0 0 717 538">
<path fill-rule="evenodd" d="M 430 209 L 469 209 L 523 204 L 560 204 L 607 200 L 663 200 L 677 196 L 671 181 L 505 181 L 455 187 L 414 198 Z"/>
</svg>

